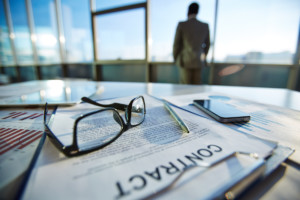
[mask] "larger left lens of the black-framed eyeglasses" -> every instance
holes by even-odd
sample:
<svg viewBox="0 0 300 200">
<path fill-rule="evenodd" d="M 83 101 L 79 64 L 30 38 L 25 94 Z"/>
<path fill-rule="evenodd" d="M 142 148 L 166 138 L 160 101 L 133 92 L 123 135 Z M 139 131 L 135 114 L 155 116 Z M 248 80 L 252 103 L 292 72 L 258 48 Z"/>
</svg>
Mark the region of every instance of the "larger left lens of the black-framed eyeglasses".
<svg viewBox="0 0 300 200">
<path fill-rule="evenodd" d="M 114 110 L 102 110 L 82 118 L 77 124 L 79 151 L 105 145 L 121 132 L 122 127 L 120 115 Z"/>
</svg>

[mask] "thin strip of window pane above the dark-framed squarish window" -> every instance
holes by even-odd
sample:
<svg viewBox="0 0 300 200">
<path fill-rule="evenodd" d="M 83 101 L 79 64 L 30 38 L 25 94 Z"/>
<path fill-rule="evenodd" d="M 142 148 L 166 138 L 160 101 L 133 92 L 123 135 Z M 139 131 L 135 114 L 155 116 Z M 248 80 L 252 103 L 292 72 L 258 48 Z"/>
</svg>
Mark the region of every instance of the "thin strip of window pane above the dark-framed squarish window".
<svg viewBox="0 0 300 200">
<path fill-rule="evenodd" d="M 145 2 L 146 0 L 96 0 L 96 11 Z"/>
</svg>

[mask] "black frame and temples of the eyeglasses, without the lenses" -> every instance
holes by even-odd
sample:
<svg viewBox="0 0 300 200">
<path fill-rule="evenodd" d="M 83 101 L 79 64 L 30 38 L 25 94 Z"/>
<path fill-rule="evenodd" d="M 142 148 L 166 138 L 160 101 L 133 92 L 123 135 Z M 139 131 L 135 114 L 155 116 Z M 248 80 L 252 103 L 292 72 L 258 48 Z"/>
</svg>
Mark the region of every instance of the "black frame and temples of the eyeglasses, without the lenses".
<svg viewBox="0 0 300 200">
<path fill-rule="evenodd" d="M 141 120 L 141 122 L 139 122 L 138 124 L 134 124 L 133 125 L 133 124 L 131 124 L 132 104 L 138 98 L 141 98 L 142 101 L 143 101 L 143 104 L 144 104 L 144 117 Z M 93 100 L 91 100 L 91 99 L 89 99 L 87 97 L 83 97 L 81 100 L 84 101 L 84 102 L 96 105 L 96 106 L 107 107 L 107 108 L 96 110 L 96 111 L 93 111 L 93 112 L 89 112 L 89 113 L 83 114 L 80 117 L 78 117 L 75 120 L 74 125 L 73 125 L 73 139 L 72 139 L 72 144 L 69 145 L 69 146 L 63 145 L 61 143 L 61 141 L 56 137 L 56 135 L 51 131 L 50 127 L 48 126 L 48 123 L 46 122 L 46 116 L 48 114 L 48 107 L 47 107 L 47 103 L 45 104 L 45 109 L 44 109 L 44 126 L 45 126 L 45 129 L 46 129 L 46 133 L 49 136 L 51 142 L 62 153 L 64 153 L 68 157 L 79 156 L 79 155 L 90 153 L 92 151 L 96 151 L 96 150 L 102 149 L 102 148 L 108 146 L 109 144 L 113 143 L 125 131 L 127 131 L 128 129 L 130 129 L 132 127 L 140 125 L 145 120 L 145 116 L 146 116 L 146 104 L 145 104 L 145 100 L 144 100 L 143 96 L 138 96 L 138 97 L 132 99 L 128 105 L 126 105 L 126 104 L 120 104 L 120 103 L 113 103 L 113 104 L 105 105 L 105 104 L 97 103 L 97 102 L 95 102 L 95 101 L 93 101 Z M 56 109 L 56 108 L 54 108 L 54 109 Z M 107 110 L 113 111 L 116 114 L 116 116 L 120 119 L 120 122 L 121 122 L 121 124 L 120 124 L 121 125 L 120 132 L 116 136 L 114 136 L 111 140 L 109 140 L 109 141 L 107 141 L 107 142 L 105 142 L 105 143 L 103 143 L 103 144 L 101 144 L 99 146 L 95 146 L 95 147 L 93 147 L 91 149 L 80 150 L 79 146 L 78 146 L 78 142 L 77 142 L 77 125 L 78 125 L 79 121 L 82 120 L 82 119 L 84 119 L 84 118 L 86 118 L 86 117 L 88 117 L 88 116 L 90 116 L 90 115 L 94 115 L 94 114 L 97 114 L 97 113 L 100 113 L 100 112 L 103 112 L 103 111 L 107 111 Z M 120 113 L 117 110 L 125 111 L 125 120 L 126 120 L 127 123 L 124 122 L 123 118 L 121 117 Z"/>
</svg>

